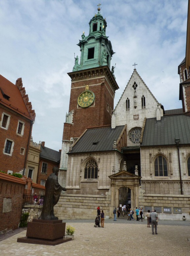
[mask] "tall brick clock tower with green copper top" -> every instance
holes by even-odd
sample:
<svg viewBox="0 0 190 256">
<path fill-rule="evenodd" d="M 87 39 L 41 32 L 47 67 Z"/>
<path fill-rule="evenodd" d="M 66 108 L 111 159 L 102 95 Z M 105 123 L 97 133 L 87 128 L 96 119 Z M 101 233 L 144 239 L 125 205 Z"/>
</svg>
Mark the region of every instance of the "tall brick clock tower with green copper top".
<svg viewBox="0 0 190 256">
<path fill-rule="evenodd" d="M 110 70 L 114 54 L 106 36 L 106 19 L 98 12 L 89 22 L 89 35 L 82 34 L 72 72 L 69 111 L 64 123 L 60 171 L 67 170 L 69 146 L 89 127 L 111 126 L 115 91 L 119 89 Z M 60 172 L 61 174 L 61 172 Z M 59 178 L 61 181 L 61 177 Z M 63 184 L 63 182 L 62 182 Z M 64 184 L 63 184 L 64 185 Z"/>
</svg>

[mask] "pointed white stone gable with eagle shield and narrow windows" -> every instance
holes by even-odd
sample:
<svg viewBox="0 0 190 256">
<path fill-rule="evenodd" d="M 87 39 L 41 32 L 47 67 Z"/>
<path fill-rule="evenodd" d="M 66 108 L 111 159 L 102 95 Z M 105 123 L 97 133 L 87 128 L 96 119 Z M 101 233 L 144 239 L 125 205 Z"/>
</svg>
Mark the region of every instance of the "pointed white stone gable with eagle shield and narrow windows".
<svg viewBox="0 0 190 256">
<path fill-rule="evenodd" d="M 135 87 L 136 90 L 134 90 Z M 142 107 L 142 97 L 145 98 L 144 108 Z M 129 99 L 129 109 L 127 109 L 127 98 Z M 160 111 L 160 116 L 163 116 L 163 110 L 160 105 L 136 69 L 134 69 L 112 115 L 112 128 L 127 124 L 127 146 L 134 146 L 135 144 L 128 138 L 130 130 L 132 128 L 142 128 L 144 119 L 159 116 L 158 111 Z"/>
</svg>

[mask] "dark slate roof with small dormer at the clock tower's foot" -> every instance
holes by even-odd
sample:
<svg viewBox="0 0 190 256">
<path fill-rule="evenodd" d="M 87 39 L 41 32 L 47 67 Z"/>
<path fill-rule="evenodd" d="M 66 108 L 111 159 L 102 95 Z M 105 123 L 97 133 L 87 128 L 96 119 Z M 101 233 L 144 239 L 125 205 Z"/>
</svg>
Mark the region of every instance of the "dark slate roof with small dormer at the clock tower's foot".
<svg viewBox="0 0 190 256">
<path fill-rule="evenodd" d="M 97 152 L 97 151 L 110 151 L 113 149 L 114 139 L 118 139 L 124 125 L 102 128 L 87 129 L 84 135 L 73 146 L 72 151 L 68 153 L 81 153 L 81 152 Z"/>
</svg>

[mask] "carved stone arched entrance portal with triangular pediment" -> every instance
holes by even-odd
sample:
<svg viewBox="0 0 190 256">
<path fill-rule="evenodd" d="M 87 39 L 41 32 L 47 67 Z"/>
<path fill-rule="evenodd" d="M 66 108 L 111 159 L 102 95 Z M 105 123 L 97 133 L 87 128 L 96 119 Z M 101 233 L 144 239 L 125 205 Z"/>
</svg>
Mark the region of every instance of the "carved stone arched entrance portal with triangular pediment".
<svg viewBox="0 0 190 256">
<path fill-rule="evenodd" d="M 128 171 L 120 171 L 110 175 L 109 178 L 111 179 L 110 217 L 113 215 L 113 208 L 118 206 L 120 196 L 124 196 L 125 200 L 127 200 L 127 197 L 129 196 L 129 191 L 131 208 L 133 209 L 134 207 L 138 206 L 139 180 L 141 179 L 140 176 L 132 174 Z"/>
</svg>

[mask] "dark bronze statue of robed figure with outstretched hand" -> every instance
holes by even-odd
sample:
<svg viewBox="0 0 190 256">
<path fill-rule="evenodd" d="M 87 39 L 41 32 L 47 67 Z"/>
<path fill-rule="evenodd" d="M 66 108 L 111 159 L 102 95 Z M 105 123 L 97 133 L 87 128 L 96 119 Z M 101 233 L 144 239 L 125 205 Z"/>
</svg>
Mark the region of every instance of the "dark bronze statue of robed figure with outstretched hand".
<svg viewBox="0 0 190 256">
<path fill-rule="evenodd" d="M 58 217 L 54 215 L 53 206 L 59 201 L 61 191 L 66 191 L 65 188 L 58 183 L 58 167 L 54 166 L 46 182 L 45 182 L 45 198 L 43 201 L 43 208 L 41 215 L 38 219 L 40 220 L 58 220 Z"/>
</svg>

